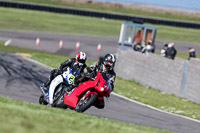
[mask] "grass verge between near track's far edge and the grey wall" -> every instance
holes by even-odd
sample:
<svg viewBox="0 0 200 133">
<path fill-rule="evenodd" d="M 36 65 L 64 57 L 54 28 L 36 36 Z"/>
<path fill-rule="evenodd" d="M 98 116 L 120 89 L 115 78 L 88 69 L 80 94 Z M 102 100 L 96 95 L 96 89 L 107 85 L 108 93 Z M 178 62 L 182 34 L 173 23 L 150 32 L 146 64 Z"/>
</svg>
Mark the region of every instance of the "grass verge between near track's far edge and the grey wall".
<svg viewBox="0 0 200 133">
<path fill-rule="evenodd" d="M 5 47 L 0 45 L 0 49 L 2 51 L 30 53 L 32 55 L 32 59 L 55 68 L 57 68 L 61 62 L 66 60 L 66 58 L 69 58 L 36 50 L 16 48 L 12 46 Z M 52 62 L 54 63 L 52 64 Z M 93 61 L 88 60 L 87 64 L 89 65 L 92 62 Z M 152 88 L 146 88 L 136 83 L 135 81 L 126 81 L 117 77 L 115 81 L 114 92 L 168 112 L 200 120 L 199 104 L 195 104 L 183 98 L 175 97 L 174 95 L 163 94 L 162 92 Z"/>
</svg>

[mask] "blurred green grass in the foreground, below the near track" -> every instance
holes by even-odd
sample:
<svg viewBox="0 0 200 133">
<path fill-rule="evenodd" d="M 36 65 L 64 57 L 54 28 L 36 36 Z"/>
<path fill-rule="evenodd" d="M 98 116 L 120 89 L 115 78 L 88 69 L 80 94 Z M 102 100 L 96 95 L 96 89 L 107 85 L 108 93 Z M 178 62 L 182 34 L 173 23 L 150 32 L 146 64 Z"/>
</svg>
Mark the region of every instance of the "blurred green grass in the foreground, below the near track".
<svg viewBox="0 0 200 133">
<path fill-rule="evenodd" d="M 0 133 L 172 133 L 0 97 Z"/>
</svg>

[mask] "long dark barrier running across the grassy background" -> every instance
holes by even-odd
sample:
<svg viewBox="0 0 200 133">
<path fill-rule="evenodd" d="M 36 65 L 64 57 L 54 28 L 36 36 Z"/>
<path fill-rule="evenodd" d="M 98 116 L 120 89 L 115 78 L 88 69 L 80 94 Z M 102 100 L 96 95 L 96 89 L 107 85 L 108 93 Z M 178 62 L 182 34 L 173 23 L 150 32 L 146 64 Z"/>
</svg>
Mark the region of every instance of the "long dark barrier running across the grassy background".
<svg viewBox="0 0 200 133">
<path fill-rule="evenodd" d="M 133 15 L 126 15 L 126 14 L 106 13 L 106 12 L 98 12 L 98 11 L 66 8 L 66 7 L 58 7 L 58 6 L 50 6 L 50 5 L 47 6 L 47 5 L 41 5 L 41 4 L 30 4 L 30 3 L 0 0 L 0 6 L 10 7 L 10 8 L 20 8 L 20 9 L 40 10 L 40 11 L 48 11 L 48 12 L 56 12 L 56 13 L 67 13 L 67 14 L 100 17 L 100 18 L 108 18 L 108 19 L 116 19 L 116 20 L 126 20 L 126 21 L 138 20 L 144 23 L 169 25 L 169 26 L 177 26 L 177 27 L 185 27 L 185 28 L 196 28 L 196 29 L 200 28 L 200 23 L 194 23 L 194 22 L 139 17 L 139 16 L 133 16 Z"/>
</svg>

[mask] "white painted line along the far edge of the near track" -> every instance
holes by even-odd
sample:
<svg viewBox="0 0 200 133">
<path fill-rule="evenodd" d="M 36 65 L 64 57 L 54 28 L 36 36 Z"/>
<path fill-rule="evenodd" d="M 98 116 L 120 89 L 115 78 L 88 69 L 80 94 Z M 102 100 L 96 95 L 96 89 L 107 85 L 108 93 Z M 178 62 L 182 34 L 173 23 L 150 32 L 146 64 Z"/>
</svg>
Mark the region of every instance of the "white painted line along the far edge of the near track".
<svg viewBox="0 0 200 133">
<path fill-rule="evenodd" d="M 46 67 L 46 68 L 48 68 L 48 69 L 53 69 L 52 67 L 49 67 L 49 66 L 47 66 L 47 65 L 45 65 L 45 64 L 42 64 L 42 63 L 40 63 L 40 62 L 38 62 L 38 61 L 35 61 L 35 60 L 33 60 L 33 59 L 30 59 L 30 58 L 28 58 L 28 57 L 25 57 L 25 56 L 22 56 L 22 57 L 23 57 L 24 59 L 27 59 L 27 60 L 29 60 L 29 61 L 31 61 L 31 62 L 34 62 L 34 63 L 36 63 L 36 64 L 39 64 L 39 65 L 41 65 L 41 66 L 43 66 L 43 67 Z M 144 104 L 144 103 L 141 103 L 141 102 L 138 102 L 138 101 L 129 99 L 129 98 L 125 97 L 125 96 L 119 95 L 119 94 L 114 93 L 114 92 L 112 92 L 112 94 L 115 95 L 115 96 L 118 96 L 118 97 L 120 97 L 120 98 L 123 98 L 123 99 L 125 99 L 125 100 L 128 100 L 128 101 L 130 101 L 130 102 L 139 104 L 139 105 L 144 106 L 144 107 L 148 107 L 148 108 L 150 108 L 150 109 L 153 109 L 153 110 L 156 110 L 156 111 L 159 111 L 159 112 L 162 112 L 162 113 L 166 113 L 166 114 L 169 114 L 169 115 L 173 115 L 173 116 L 185 118 L 185 119 L 188 119 L 188 120 L 191 120 L 191 121 L 200 123 L 200 120 L 197 120 L 197 119 L 193 119 L 193 118 L 190 118 L 190 117 L 187 117 L 187 116 L 178 115 L 178 114 L 173 114 L 173 113 L 170 113 L 170 112 L 167 112 L 167 111 L 164 111 L 164 110 L 155 108 L 155 107 L 153 107 L 153 106 L 150 106 L 150 105 L 147 105 L 147 104 Z"/>
</svg>

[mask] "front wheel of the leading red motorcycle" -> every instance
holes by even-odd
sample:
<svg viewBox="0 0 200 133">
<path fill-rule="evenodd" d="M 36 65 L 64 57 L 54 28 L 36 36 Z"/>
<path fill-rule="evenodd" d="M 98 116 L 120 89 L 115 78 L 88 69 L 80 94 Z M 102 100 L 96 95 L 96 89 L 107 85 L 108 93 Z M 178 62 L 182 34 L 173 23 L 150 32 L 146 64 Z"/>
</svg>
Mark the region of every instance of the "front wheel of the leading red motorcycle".
<svg viewBox="0 0 200 133">
<path fill-rule="evenodd" d="M 97 100 L 97 95 L 94 93 L 91 93 L 89 96 L 84 98 L 84 96 L 79 100 L 79 102 L 76 105 L 75 110 L 77 112 L 84 112 L 88 108 L 90 108 L 94 102 Z"/>
</svg>

